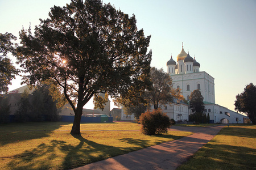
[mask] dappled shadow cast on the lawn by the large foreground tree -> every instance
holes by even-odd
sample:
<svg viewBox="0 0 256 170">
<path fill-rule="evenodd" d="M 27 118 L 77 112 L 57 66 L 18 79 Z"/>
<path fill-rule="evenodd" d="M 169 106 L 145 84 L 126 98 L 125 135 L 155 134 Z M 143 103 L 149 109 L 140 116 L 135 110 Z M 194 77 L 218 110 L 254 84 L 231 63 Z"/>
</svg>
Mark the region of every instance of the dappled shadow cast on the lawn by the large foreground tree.
<svg viewBox="0 0 256 170">
<path fill-rule="evenodd" d="M 131 148 L 113 147 L 73 135 L 75 145 L 52 140 L 14 155 L 6 169 L 71 169 L 130 152 Z M 5 159 L 5 158 L 3 158 Z"/>
</svg>

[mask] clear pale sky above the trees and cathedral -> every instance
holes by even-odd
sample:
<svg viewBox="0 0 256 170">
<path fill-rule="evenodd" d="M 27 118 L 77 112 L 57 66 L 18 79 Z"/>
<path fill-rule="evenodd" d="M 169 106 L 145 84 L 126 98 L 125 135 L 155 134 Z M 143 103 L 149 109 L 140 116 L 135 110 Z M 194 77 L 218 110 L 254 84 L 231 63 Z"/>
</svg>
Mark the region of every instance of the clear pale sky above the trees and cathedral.
<svg viewBox="0 0 256 170">
<path fill-rule="evenodd" d="M 0 0 L 0 32 L 18 37 L 48 18 L 51 7 L 68 0 Z M 151 66 L 167 71 L 166 62 L 184 50 L 213 76 L 216 104 L 234 110 L 234 100 L 246 84 L 256 84 L 255 0 L 104 0 L 126 14 L 135 14 L 138 29 L 151 35 Z M 20 78 L 9 90 L 20 87 Z M 91 103 L 86 108 L 92 108 Z"/>
</svg>

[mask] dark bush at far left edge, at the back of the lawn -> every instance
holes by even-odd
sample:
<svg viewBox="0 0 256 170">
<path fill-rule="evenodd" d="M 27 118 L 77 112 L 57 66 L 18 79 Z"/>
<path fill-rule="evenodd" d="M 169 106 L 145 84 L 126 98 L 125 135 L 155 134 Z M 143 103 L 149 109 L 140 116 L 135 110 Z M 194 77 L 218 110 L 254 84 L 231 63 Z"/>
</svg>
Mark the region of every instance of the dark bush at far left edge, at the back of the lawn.
<svg viewBox="0 0 256 170">
<path fill-rule="evenodd" d="M 0 97 L 0 124 L 9 122 L 10 105 L 7 97 Z"/>
</svg>

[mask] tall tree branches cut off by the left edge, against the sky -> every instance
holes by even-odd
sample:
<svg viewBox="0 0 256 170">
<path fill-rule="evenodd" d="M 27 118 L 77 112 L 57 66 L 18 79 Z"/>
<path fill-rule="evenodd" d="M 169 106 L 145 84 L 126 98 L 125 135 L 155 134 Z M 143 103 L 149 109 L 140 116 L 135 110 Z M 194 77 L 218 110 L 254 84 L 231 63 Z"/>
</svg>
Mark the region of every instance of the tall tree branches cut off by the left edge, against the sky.
<svg viewBox="0 0 256 170">
<path fill-rule="evenodd" d="M 15 54 L 16 44 L 12 42 L 13 40 L 16 40 L 16 37 L 11 33 L 0 33 L 0 95 L 8 92 L 8 85 L 19 72 L 11 63 L 11 59 L 7 58 L 7 53 Z"/>
</svg>

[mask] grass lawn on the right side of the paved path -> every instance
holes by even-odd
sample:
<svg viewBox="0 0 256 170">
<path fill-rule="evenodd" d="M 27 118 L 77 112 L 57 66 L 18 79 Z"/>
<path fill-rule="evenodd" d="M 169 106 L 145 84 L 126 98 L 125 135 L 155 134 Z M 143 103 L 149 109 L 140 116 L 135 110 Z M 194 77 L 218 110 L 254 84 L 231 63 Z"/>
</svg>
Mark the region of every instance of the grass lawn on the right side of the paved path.
<svg viewBox="0 0 256 170">
<path fill-rule="evenodd" d="M 256 169 L 256 125 L 225 126 L 177 169 Z"/>
</svg>

